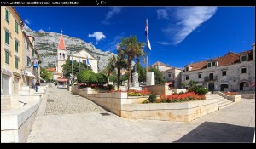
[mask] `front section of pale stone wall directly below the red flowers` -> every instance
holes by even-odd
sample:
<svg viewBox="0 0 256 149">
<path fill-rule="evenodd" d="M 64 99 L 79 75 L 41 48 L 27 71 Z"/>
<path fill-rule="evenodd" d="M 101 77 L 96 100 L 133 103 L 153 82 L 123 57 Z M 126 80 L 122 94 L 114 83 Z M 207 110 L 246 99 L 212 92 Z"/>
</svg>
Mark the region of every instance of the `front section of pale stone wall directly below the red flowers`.
<svg viewBox="0 0 256 149">
<path fill-rule="evenodd" d="M 218 100 L 122 105 L 121 117 L 190 122 L 218 110 Z"/>
</svg>

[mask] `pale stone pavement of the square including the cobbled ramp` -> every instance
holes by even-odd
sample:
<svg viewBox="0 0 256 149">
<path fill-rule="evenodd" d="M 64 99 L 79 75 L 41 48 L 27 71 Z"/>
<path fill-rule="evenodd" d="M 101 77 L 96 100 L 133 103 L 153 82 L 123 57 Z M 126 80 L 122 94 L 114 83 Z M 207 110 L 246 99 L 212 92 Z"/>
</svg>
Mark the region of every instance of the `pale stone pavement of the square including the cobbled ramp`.
<svg viewBox="0 0 256 149">
<path fill-rule="evenodd" d="M 27 142 L 253 142 L 255 131 L 255 99 L 190 123 L 103 116 L 106 111 L 90 100 L 55 87 L 48 100 L 55 101 L 47 102 L 46 115 L 36 117 Z"/>
</svg>

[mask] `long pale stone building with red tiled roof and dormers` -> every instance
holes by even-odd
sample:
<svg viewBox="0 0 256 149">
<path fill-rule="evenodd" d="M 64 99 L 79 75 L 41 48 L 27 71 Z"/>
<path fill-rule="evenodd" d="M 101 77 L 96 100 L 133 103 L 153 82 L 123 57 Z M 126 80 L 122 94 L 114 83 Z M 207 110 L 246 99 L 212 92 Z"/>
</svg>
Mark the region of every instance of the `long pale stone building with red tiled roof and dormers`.
<svg viewBox="0 0 256 149">
<path fill-rule="evenodd" d="M 216 91 L 255 90 L 255 44 L 241 53 L 229 52 L 222 57 L 184 66 L 182 82 Z"/>
</svg>

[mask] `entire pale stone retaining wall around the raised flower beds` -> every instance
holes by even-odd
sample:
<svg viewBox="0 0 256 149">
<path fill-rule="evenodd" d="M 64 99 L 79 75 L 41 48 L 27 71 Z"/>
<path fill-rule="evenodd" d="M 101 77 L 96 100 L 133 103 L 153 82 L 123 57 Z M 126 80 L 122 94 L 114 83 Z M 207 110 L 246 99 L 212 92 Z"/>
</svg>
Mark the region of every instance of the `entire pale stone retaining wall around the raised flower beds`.
<svg viewBox="0 0 256 149">
<path fill-rule="evenodd" d="M 72 89 L 120 117 L 190 122 L 218 110 L 218 100 L 196 100 L 182 103 L 141 104 L 148 97 L 127 96 L 125 92 L 92 94 L 90 89 Z"/>
</svg>

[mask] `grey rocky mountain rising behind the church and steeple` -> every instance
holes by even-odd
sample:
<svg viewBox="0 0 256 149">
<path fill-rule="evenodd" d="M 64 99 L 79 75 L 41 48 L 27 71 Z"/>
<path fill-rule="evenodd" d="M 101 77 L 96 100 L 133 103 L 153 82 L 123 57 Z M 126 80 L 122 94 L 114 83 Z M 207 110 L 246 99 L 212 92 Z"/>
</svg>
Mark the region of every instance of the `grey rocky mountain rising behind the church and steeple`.
<svg viewBox="0 0 256 149">
<path fill-rule="evenodd" d="M 57 64 L 57 47 L 61 34 L 56 32 L 35 32 L 26 25 L 23 27 L 23 30 L 27 35 L 35 37 L 35 49 L 38 50 L 40 60 L 42 61 L 41 66 L 55 67 Z M 99 65 L 100 71 L 107 66 L 108 58 L 113 55 L 113 53 L 109 51 L 103 52 L 101 49 L 96 49 L 94 45 L 86 43 L 84 40 L 77 37 L 63 35 L 63 38 L 67 48 L 67 55 L 74 54 L 81 49 L 85 49 L 95 59 L 99 56 L 99 64 L 101 64 Z"/>
</svg>

